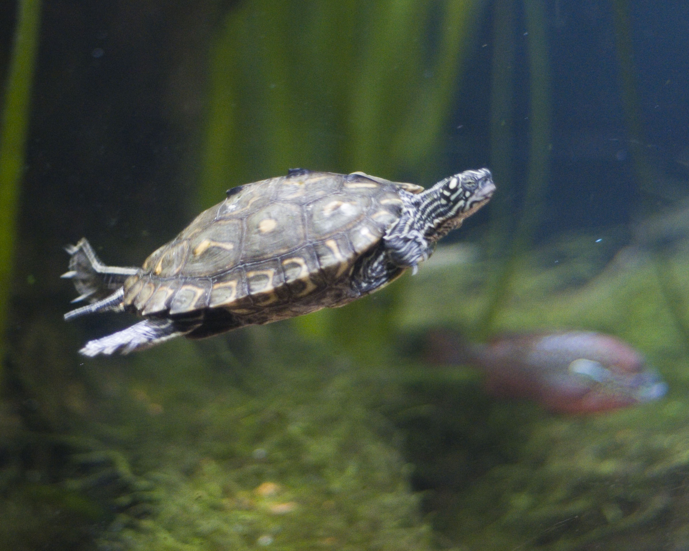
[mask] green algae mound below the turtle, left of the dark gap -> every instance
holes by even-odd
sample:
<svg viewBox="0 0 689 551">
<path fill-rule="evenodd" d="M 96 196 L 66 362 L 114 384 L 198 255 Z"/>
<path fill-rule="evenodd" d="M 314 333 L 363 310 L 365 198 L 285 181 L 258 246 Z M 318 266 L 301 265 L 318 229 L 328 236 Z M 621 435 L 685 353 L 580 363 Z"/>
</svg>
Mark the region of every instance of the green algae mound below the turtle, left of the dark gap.
<svg viewBox="0 0 689 551">
<path fill-rule="evenodd" d="M 110 400 L 83 424 L 90 438 L 63 440 L 81 468 L 61 487 L 114 508 L 101 548 L 426 548 L 409 466 L 370 385 L 308 349 L 289 364 L 272 348 L 285 337 L 254 333 L 250 365 L 183 341 L 99 362 Z"/>
</svg>

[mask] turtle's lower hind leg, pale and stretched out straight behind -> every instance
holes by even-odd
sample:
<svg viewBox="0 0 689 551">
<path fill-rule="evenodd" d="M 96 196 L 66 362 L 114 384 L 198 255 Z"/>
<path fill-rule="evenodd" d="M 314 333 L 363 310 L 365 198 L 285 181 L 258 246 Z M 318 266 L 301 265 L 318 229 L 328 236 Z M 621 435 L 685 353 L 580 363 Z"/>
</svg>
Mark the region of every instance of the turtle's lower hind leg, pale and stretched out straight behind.
<svg viewBox="0 0 689 551">
<path fill-rule="evenodd" d="M 117 351 L 122 354 L 128 354 L 138 350 L 145 350 L 166 340 L 185 335 L 189 331 L 194 331 L 198 325 L 200 325 L 200 320 L 184 322 L 149 318 L 127 327 L 127 329 L 107 335 L 107 337 L 90 340 L 79 353 L 93 357 L 99 354 L 110 355 Z"/>
</svg>

